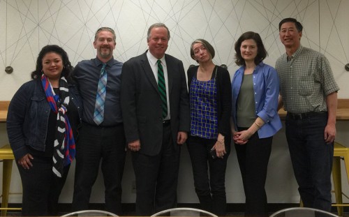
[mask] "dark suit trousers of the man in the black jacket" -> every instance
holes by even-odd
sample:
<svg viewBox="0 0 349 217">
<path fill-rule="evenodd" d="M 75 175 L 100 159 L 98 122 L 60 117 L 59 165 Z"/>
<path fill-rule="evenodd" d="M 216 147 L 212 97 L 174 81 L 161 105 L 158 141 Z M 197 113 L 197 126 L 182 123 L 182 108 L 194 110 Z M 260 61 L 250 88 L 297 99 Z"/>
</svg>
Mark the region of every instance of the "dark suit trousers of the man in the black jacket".
<svg viewBox="0 0 349 217">
<path fill-rule="evenodd" d="M 141 140 L 142 148 L 142 140 Z M 132 152 L 136 181 L 136 215 L 152 214 L 177 206 L 180 148 L 173 144 L 171 126 L 163 126 L 163 144 L 156 156 Z"/>
</svg>

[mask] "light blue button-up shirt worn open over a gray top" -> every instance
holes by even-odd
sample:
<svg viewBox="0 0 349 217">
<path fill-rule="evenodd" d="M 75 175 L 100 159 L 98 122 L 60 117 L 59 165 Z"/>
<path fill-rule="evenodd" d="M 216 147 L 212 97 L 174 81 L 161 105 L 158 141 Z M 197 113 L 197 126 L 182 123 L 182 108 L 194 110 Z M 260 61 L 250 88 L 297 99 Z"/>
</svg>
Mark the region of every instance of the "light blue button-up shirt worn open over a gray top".
<svg viewBox="0 0 349 217">
<path fill-rule="evenodd" d="M 237 130 L 237 97 L 239 96 L 245 66 L 240 67 L 232 78 L 232 119 Z M 253 71 L 253 91 L 255 99 L 255 117 L 260 117 L 265 124 L 258 130 L 260 138 L 275 135 L 282 127 L 278 114 L 280 82 L 276 70 L 260 62 Z"/>
</svg>

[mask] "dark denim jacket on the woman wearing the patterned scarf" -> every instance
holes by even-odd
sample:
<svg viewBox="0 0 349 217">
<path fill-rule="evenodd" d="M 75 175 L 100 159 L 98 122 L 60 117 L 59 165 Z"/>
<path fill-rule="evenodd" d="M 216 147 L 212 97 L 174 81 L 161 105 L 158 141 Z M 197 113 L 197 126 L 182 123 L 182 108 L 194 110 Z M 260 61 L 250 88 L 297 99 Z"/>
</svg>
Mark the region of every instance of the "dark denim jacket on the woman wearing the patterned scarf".
<svg viewBox="0 0 349 217">
<path fill-rule="evenodd" d="M 69 85 L 70 103 L 77 107 L 80 123 L 82 100 L 74 84 Z M 26 82 L 10 101 L 6 119 L 8 140 L 16 160 L 29 153 L 27 146 L 45 151 L 50 105 L 40 80 Z"/>
</svg>

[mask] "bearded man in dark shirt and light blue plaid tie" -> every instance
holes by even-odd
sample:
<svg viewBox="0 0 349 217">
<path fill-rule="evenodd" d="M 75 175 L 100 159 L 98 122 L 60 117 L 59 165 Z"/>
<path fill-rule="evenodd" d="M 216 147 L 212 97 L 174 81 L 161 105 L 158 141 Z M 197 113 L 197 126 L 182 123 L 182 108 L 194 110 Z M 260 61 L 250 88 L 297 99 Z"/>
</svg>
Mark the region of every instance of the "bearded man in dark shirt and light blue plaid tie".
<svg viewBox="0 0 349 217">
<path fill-rule="evenodd" d="M 94 37 L 97 57 L 80 61 L 73 71 L 84 105 L 76 145 L 74 211 L 89 209 L 91 188 L 102 161 L 105 210 L 121 214 L 126 143 L 119 97 L 123 63 L 113 58 L 115 39 L 113 29 L 98 29 Z"/>
</svg>

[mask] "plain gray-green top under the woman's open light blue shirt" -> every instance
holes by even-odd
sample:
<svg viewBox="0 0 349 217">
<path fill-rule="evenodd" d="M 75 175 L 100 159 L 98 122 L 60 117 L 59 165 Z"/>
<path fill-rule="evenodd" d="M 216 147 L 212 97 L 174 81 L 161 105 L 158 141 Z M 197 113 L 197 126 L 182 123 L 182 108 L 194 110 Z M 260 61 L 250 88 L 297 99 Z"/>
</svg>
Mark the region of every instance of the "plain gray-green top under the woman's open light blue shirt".
<svg viewBox="0 0 349 217">
<path fill-rule="evenodd" d="M 255 121 L 255 91 L 251 75 L 244 75 L 237 98 L 237 126 L 250 127 Z"/>
</svg>

